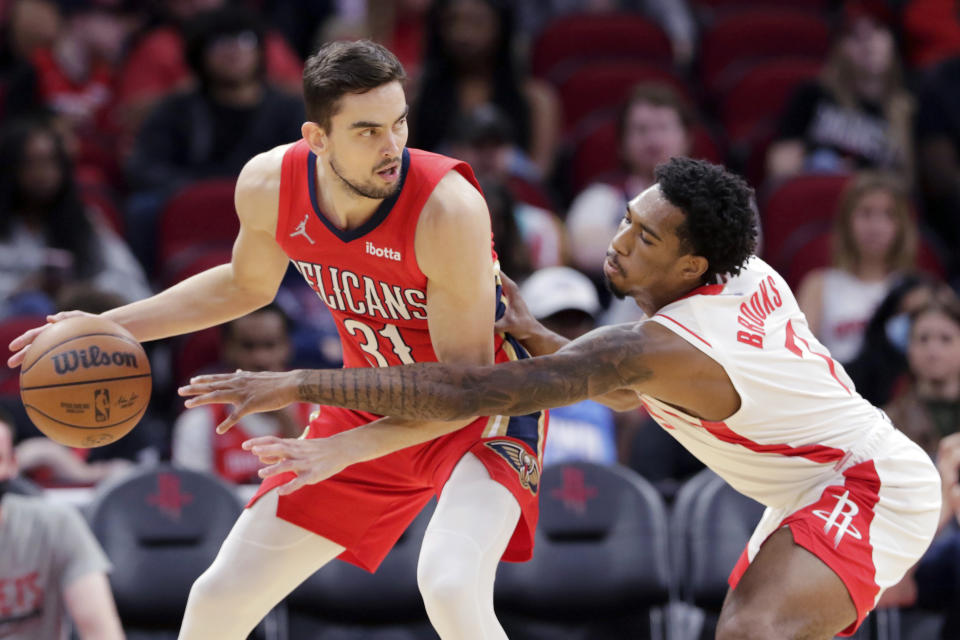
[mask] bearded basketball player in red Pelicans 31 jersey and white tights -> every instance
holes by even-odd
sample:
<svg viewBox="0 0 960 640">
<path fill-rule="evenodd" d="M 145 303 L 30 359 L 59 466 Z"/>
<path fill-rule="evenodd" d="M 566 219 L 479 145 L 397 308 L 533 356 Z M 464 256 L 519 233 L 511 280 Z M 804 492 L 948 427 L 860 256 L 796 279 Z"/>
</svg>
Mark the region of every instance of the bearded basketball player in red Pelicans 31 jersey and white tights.
<svg viewBox="0 0 960 640">
<path fill-rule="evenodd" d="M 336 318 L 348 367 L 523 357 L 494 334 L 490 219 L 473 173 L 406 148 L 403 80 L 379 45 L 324 46 L 304 71 L 303 139 L 240 174 L 231 263 L 104 315 L 141 341 L 196 331 L 269 303 L 292 261 Z M 11 366 L 40 331 L 11 344 Z M 375 570 L 436 494 L 417 576 L 430 620 L 445 639 L 506 638 L 494 575 L 501 557 L 532 553 L 545 414 L 409 421 L 324 407 L 307 437 L 355 427 L 372 447 L 327 481 L 263 483 L 194 584 L 181 639 L 246 638 L 333 558 Z"/>
</svg>

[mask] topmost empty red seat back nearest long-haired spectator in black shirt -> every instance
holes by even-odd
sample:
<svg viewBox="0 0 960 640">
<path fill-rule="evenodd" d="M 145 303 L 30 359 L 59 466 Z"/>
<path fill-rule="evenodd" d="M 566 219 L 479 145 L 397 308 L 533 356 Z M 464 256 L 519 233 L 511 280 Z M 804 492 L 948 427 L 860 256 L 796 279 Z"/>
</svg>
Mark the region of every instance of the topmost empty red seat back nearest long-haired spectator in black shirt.
<svg viewBox="0 0 960 640">
<path fill-rule="evenodd" d="M 830 31 L 808 11 L 757 8 L 719 18 L 701 42 L 700 75 L 707 90 L 719 96 L 758 61 L 783 57 L 822 61 Z"/>
</svg>

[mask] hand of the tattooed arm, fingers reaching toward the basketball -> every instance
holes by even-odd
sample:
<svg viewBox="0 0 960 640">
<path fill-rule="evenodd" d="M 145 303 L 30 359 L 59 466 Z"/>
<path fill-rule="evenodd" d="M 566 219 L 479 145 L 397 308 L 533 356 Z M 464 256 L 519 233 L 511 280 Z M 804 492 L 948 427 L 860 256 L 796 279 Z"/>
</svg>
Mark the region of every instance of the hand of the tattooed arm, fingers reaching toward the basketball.
<svg viewBox="0 0 960 640">
<path fill-rule="evenodd" d="M 190 379 L 177 391 L 190 397 L 187 408 L 204 404 L 232 404 L 233 411 L 217 425 L 226 433 L 240 418 L 251 413 L 276 411 L 297 401 L 296 374 L 292 371 L 235 371 Z"/>
</svg>

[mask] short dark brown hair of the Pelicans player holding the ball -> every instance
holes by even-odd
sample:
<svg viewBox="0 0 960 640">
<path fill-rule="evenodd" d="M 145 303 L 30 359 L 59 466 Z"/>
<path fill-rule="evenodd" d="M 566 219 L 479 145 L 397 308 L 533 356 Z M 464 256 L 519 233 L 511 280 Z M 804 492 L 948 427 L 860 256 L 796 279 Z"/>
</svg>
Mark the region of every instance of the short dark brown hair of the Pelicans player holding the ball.
<svg viewBox="0 0 960 640">
<path fill-rule="evenodd" d="M 303 68 L 303 99 L 307 118 L 324 130 L 347 93 L 366 93 L 389 82 L 403 82 L 407 74 L 389 49 L 371 42 L 330 42 L 307 58 Z"/>
</svg>

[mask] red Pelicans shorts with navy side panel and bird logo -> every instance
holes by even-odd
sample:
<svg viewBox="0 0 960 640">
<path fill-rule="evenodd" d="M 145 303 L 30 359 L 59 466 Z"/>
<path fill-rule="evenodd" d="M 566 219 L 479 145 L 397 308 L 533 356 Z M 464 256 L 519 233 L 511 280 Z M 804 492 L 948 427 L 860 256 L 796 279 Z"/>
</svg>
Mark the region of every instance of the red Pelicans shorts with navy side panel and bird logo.
<svg viewBox="0 0 960 640">
<path fill-rule="evenodd" d="M 306 437 L 331 436 L 377 418 L 322 407 Z M 342 545 L 346 550 L 341 560 L 373 572 L 470 452 L 520 505 L 520 520 L 503 559 L 524 562 L 533 555 L 547 422 L 547 412 L 478 418 L 453 433 L 351 465 L 323 482 L 280 496 L 277 516 Z M 247 506 L 292 477 L 267 478 Z"/>
</svg>

